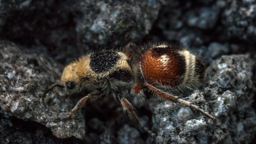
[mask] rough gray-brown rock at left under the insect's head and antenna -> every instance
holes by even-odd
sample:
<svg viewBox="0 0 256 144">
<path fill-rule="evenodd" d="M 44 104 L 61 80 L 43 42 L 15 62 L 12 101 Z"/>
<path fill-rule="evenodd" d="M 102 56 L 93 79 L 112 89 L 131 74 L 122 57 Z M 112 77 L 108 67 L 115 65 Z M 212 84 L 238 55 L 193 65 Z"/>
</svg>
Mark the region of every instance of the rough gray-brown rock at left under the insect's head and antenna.
<svg viewBox="0 0 256 144">
<path fill-rule="evenodd" d="M 41 123 L 58 138 L 83 138 L 85 122 L 82 114 L 78 116 L 76 113 L 73 118 L 62 120 L 75 105 L 69 97 L 66 98 L 63 90 L 56 88 L 47 94 L 48 111 L 40 102 L 46 85 L 60 83 L 49 71 L 60 76 L 57 63 L 43 54 L 25 53 L 9 41 L 0 42 L 0 57 L 0 106 L 3 111 L 25 121 Z"/>
</svg>

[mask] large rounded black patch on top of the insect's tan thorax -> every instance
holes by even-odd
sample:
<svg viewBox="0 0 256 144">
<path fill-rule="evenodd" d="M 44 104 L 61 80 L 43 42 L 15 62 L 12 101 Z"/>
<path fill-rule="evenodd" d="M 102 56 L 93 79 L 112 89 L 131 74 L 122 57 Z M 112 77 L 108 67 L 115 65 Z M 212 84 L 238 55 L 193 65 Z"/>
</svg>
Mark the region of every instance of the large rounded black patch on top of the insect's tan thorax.
<svg viewBox="0 0 256 144">
<path fill-rule="evenodd" d="M 113 51 L 93 54 L 90 56 L 90 68 L 95 73 L 109 71 L 116 65 L 119 58 L 121 56 Z"/>
</svg>

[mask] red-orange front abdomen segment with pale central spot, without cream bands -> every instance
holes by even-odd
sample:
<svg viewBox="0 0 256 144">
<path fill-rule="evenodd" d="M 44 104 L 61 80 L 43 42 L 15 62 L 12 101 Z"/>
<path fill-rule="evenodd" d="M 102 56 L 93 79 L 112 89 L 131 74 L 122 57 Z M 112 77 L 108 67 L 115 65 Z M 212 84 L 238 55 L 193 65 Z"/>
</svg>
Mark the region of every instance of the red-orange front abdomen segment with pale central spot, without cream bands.
<svg viewBox="0 0 256 144">
<path fill-rule="evenodd" d="M 141 59 L 142 74 L 152 85 L 178 86 L 183 80 L 185 65 L 185 57 L 170 46 L 150 48 Z"/>
</svg>

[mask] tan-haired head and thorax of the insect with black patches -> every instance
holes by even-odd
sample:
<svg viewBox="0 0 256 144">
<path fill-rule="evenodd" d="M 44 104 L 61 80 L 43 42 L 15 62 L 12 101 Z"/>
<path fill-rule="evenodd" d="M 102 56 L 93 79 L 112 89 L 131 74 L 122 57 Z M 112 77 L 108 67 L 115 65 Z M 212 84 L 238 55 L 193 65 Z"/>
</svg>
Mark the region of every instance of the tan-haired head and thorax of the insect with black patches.
<svg viewBox="0 0 256 144">
<path fill-rule="evenodd" d="M 126 54 L 115 51 L 85 55 L 67 65 L 61 77 L 61 83 L 69 93 L 87 89 L 109 94 L 127 87 L 131 81 L 130 59 Z M 73 83 L 74 87 L 70 89 L 68 83 Z"/>
</svg>

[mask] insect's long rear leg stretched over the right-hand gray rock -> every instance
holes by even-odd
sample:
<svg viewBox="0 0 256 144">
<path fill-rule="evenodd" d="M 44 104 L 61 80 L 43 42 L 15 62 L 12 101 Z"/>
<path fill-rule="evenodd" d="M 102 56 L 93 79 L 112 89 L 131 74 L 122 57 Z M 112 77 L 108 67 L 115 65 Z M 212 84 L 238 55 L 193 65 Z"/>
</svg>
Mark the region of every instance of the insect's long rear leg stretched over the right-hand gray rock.
<svg viewBox="0 0 256 144">
<path fill-rule="evenodd" d="M 198 110 L 203 115 L 205 115 L 206 117 L 214 120 L 214 117 L 211 114 L 209 114 L 207 111 L 204 111 L 204 110 L 200 109 L 198 106 L 193 105 L 192 103 L 190 103 L 188 101 L 185 101 L 183 99 L 179 99 L 177 96 L 174 96 L 174 95 L 171 95 L 171 94 L 167 94 L 167 93 L 165 93 L 165 92 L 163 92 L 163 91 L 161 91 L 161 90 L 159 90 L 159 89 L 155 88 L 154 86 L 151 86 L 151 85 L 149 85 L 147 83 L 144 83 L 144 85 L 146 87 L 148 87 L 150 90 L 154 91 L 154 93 L 157 94 L 159 97 L 162 97 L 162 98 L 164 98 L 164 99 L 166 99 L 168 101 L 178 102 L 178 103 L 181 103 L 181 104 L 183 104 L 183 105 L 185 105 L 187 107 L 190 107 L 192 109 Z"/>
</svg>

